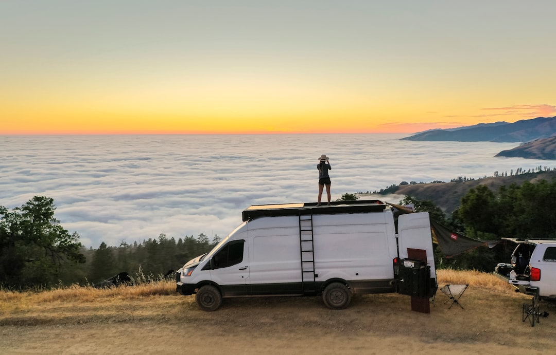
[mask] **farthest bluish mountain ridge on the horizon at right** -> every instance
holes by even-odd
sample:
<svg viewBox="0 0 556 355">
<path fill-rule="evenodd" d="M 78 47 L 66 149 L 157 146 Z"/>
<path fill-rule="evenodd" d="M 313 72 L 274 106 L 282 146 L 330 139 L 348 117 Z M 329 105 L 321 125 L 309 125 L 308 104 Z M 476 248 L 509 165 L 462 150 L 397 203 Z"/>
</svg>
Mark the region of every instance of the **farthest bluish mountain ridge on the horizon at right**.
<svg viewBox="0 0 556 355">
<path fill-rule="evenodd" d="M 497 122 L 495 124 L 478 124 L 457 129 L 439 129 L 424 131 L 401 138 L 400 140 L 420 141 L 491 141 L 491 142 L 527 142 L 556 135 L 556 116 L 537 117 L 519 120 L 514 123 Z"/>
</svg>

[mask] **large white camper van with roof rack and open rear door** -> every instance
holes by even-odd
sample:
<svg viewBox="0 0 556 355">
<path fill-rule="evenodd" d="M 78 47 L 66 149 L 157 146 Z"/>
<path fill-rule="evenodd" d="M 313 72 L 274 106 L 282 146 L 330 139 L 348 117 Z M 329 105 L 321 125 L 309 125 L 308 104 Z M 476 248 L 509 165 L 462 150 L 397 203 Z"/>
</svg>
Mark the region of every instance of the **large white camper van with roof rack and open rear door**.
<svg viewBox="0 0 556 355">
<path fill-rule="evenodd" d="M 215 311 L 222 298 L 321 296 L 346 308 L 356 293 L 436 291 L 428 212 L 379 200 L 255 205 L 209 253 L 176 272 L 181 295 Z"/>
</svg>

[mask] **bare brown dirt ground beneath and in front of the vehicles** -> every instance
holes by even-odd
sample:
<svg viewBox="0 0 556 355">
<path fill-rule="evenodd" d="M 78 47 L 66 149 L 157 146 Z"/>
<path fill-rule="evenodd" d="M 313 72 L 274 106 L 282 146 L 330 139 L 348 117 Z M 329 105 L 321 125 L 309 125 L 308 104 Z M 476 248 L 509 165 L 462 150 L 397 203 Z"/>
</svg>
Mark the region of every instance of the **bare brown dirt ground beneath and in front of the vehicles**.
<svg viewBox="0 0 556 355">
<path fill-rule="evenodd" d="M 528 296 L 470 287 L 461 306 L 438 291 L 429 314 L 396 294 L 355 296 L 346 310 L 316 297 L 236 298 L 215 312 L 194 296 L 27 305 L 0 310 L 3 354 L 546 354 L 556 346 L 556 305 L 522 322 Z"/>
</svg>

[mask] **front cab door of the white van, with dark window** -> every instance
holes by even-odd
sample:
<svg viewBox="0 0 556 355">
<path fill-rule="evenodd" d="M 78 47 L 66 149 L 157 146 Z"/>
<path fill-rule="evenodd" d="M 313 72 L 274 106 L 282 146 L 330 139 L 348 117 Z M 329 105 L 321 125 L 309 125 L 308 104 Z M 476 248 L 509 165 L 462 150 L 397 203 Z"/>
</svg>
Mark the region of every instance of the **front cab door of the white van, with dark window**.
<svg viewBox="0 0 556 355">
<path fill-rule="evenodd" d="M 216 282 L 222 296 L 244 296 L 249 283 L 249 252 L 245 240 L 232 240 L 211 258 L 211 280 Z"/>
</svg>

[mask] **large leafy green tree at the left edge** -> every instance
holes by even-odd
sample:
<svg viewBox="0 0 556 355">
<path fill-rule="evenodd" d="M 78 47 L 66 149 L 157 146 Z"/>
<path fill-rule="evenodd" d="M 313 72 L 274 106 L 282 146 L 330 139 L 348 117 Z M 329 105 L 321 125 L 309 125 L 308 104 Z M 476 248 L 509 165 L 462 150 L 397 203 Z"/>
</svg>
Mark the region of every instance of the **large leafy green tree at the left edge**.
<svg viewBox="0 0 556 355">
<path fill-rule="evenodd" d="M 0 206 L 0 280 L 8 287 L 52 286 L 64 267 L 84 263 L 77 232 L 54 218 L 54 200 L 35 196 L 9 211 Z"/>
</svg>

